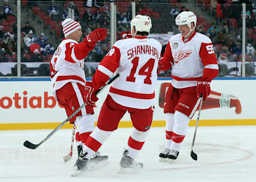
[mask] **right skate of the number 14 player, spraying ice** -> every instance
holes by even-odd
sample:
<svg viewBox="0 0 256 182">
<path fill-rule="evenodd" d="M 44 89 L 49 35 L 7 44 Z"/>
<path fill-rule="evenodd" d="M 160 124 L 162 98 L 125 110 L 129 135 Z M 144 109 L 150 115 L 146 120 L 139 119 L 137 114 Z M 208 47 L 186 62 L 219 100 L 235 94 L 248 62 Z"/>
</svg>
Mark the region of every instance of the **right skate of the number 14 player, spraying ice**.
<svg viewBox="0 0 256 182">
<path fill-rule="evenodd" d="M 123 153 L 123 157 L 120 161 L 120 169 L 117 171 L 119 174 L 123 173 L 134 173 L 140 172 L 143 168 L 143 163 L 135 161 L 133 158 L 127 156 L 128 151 L 125 150 Z"/>
</svg>

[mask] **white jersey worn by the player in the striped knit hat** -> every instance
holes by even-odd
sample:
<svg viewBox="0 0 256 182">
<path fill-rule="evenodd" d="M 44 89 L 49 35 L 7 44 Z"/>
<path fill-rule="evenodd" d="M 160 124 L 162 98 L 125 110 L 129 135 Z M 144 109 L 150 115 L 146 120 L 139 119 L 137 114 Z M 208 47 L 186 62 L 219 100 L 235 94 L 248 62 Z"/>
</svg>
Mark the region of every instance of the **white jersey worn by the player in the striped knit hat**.
<svg viewBox="0 0 256 182">
<path fill-rule="evenodd" d="M 62 40 L 50 62 L 54 97 L 55 91 L 68 82 L 85 85 L 84 58 L 90 50 L 84 41 L 78 44 L 75 40 Z"/>
</svg>

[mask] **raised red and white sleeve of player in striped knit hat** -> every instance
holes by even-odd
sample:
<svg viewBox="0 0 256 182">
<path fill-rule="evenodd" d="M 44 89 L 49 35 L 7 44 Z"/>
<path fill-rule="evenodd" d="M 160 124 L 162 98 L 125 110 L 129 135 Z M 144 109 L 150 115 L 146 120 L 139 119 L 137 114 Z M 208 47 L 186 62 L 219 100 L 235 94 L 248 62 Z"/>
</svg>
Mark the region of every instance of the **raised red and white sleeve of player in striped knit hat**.
<svg viewBox="0 0 256 182">
<path fill-rule="evenodd" d="M 76 63 L 79 60 L 84 59 L 93 49 L 88 46 L 87 41 L 82 41 L 79 44 L 75 42 L 68 42 L 65 46 L 65 60 L 71 63 Z"/>
</svg>

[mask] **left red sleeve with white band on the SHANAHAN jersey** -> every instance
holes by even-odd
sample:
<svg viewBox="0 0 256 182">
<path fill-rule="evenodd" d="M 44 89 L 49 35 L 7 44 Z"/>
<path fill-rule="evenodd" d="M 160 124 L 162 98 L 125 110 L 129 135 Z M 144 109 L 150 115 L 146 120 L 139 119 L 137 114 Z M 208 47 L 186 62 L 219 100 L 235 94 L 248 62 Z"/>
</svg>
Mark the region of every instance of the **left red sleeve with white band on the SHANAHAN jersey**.
<svg viewBox="0 0 256 182">
<path fill-rule="evenodd" d="M 105 85 L 114 74 L 120 62 L 120 50 L 113 46 L 108 54 L 101 60 L 95 74 L 92 77 L 92 84 L 95 90 Z"/>
</svg>

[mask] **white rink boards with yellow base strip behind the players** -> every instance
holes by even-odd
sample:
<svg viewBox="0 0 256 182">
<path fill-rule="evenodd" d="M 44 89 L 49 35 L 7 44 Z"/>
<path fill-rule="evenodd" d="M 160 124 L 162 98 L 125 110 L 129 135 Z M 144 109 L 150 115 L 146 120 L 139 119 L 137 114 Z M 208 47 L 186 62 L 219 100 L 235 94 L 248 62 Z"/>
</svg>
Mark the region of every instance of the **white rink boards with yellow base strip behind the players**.
<svg viewBox="0 0 256 182">
<path fill-rule="evenodd" d="M 170 79 L 159 78 L 155 92 L 154 126 L 164 126 L 163 108 L 159 107 L 159 92 L 162 83 Z M 5 129 L 51 129 L 57 127 L 67 116 L 52 95 L 49 79 L 1 79 L 0 80 L 0 130 Z M 109 88 L 99 94 L 94 119 L 97 122 L 99 111 L 108 94 Z M 211 83 L 211 90 L 229 96 L 236 96 L 241 102 L 241 114 L 235 114 L 235 108 L 225 106 L 225 97 L 220 101 L 222 107 L 201 111 L 199 125 L 256 125 L 255 78 L 218 78 Z M 227 94 L 227 95 L 225 95 Z M 195 126 L 197 112 L 189 126 Z M 130 116 L 125 114 L 119 127 L 132 127 Z M 72 128 L 68 123 L 63 128 Z"/>
</svg>

